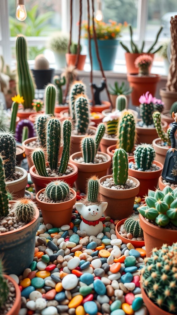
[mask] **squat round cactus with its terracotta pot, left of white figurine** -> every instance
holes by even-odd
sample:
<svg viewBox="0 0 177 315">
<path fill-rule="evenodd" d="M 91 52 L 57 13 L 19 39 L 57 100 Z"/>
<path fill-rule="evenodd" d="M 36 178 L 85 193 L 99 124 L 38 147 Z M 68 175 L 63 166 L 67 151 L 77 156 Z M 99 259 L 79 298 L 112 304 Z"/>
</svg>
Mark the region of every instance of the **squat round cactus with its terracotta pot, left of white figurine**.
<svg viewBox="0 0 177 315">
<path fill-rule="evenodd" d="M 72 208 L 76 203 L 76 192 L 63 180 L 51 181 L 36 195 L 44 224 L 59 227 L 71 222 Z"/>
</svg>

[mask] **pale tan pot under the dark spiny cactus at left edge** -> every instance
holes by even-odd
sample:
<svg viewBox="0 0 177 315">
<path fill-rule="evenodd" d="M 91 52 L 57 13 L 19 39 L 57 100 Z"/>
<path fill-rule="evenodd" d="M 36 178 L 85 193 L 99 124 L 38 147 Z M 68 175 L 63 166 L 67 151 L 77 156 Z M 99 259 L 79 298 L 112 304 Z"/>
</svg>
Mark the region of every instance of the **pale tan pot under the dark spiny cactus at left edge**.
<svg viewBox="0 0 177 315">
<path fill-rule="evenodd" d="M 6 188 L 13 194 L 13 198 L 18 199 L 25 196 L 25 188 L 28 183 L 28 173 L 21 167 L 15 167 L 15 171 L 22 173 L 23 176 L 17 180 L 6 181 L 5 183 Z"/>
</svg>

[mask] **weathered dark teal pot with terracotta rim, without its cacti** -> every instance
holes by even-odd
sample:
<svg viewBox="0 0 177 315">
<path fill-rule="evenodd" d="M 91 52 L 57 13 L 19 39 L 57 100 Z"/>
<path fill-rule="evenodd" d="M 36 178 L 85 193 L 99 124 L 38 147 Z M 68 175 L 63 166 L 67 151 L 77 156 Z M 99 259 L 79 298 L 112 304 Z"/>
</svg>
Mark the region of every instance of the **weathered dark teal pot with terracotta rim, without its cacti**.
<svg viewBox="0 0 177 315">
<path fill-rule="evenodd" d="M 9 201 L 14 203 L 14 201 Z M 28 268 L 34 257 L 36 232 L 39 228 L 39 210 L 36 208 L 34 220 L 19 229 L 0 233 L 0 253 L 6 274 L 20 276 Z"/>
</svg>

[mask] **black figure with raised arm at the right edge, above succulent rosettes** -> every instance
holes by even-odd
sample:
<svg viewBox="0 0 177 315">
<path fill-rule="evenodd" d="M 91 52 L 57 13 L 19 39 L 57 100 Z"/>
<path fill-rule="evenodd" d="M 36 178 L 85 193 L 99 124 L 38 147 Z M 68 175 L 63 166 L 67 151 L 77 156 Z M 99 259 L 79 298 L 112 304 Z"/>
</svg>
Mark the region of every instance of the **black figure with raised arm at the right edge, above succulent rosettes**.
<svg viewBox="0 0 177 315">
<path fill-rule="evenodd" d="M 170 131 L 171 148 L 167 151 L 165 163 L 162 171 L 162 178 L 177 184 L 177 143 L 175 133 L 177 130 L 177 113 L 172 113 L 174 118 L 173 127 Z"/>
</svg>

